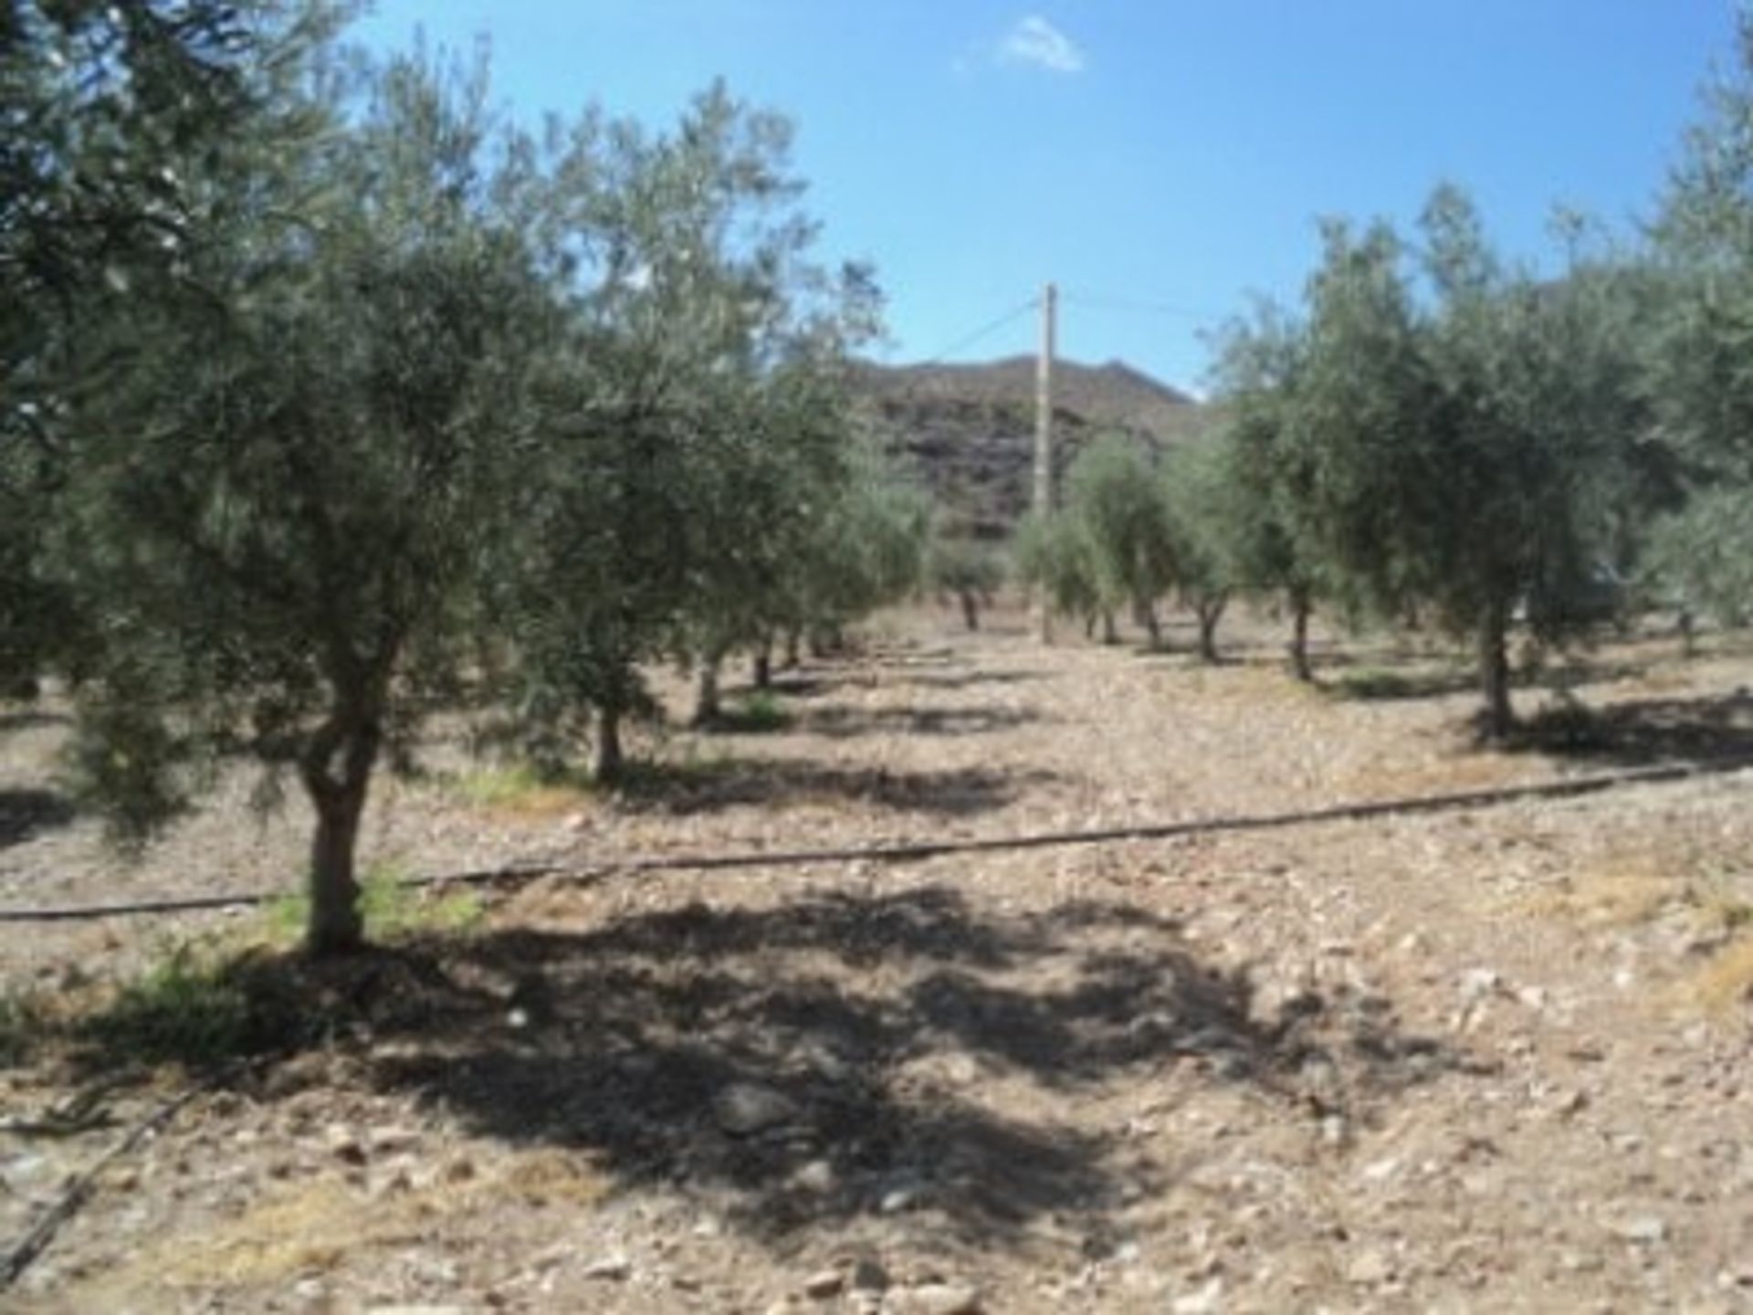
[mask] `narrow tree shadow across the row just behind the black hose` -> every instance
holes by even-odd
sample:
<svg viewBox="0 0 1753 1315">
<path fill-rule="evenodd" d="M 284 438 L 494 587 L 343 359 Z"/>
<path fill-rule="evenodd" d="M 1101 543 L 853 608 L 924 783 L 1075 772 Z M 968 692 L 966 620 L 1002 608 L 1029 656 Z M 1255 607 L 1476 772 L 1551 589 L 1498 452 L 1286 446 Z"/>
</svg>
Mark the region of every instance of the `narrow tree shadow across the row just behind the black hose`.
<svg viewBox="0 0 1753 1315">
<path fill-rule="evenodd" d="M 997 812 L 1022 791 L 1059 780 L 1052 771 L 945 768 L 903 771 L 785 757 L 735 757 L 705 764 L 633 764 L 615 784 L 624 808 L 712 814 L 745 805 L 850 803 L 931 817 Z"/>
</svg>

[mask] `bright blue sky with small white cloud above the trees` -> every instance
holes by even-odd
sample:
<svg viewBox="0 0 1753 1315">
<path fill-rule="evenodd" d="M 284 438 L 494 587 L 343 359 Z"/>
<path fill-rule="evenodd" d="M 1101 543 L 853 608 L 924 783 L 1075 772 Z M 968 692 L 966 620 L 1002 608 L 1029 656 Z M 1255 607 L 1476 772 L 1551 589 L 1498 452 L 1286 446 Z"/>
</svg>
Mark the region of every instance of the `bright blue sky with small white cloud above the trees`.
<svg viewBox="0 0 1753 1315">
<path fill-rule="evenodd" d="M 868 258 L 887 359 L 1064 289 L 1062 354 L 1197 387 L 1201 330 L 1295 300 L 1324 214 L 1439 179 L 1499 244 L 1555 203 L 1648 214 L 1734 0 L 379 0 L 356 35 L 468 46 L 535 121 L 673 121 L 722 75 L 798 123 L 822 254 Z M 1027 312 L 950 352 L 1033 351 Z"/>
</svg>

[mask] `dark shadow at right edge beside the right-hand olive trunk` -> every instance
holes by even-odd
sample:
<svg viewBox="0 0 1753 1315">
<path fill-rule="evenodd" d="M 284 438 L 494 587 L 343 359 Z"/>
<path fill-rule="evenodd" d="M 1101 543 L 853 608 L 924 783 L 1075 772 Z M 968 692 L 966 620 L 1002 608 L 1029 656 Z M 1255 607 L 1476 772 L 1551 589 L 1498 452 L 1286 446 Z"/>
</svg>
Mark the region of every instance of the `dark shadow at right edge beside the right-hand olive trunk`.
<svg viewBox="0 0 1753 1315">
<path fill-rule="evenodd" d="M 1511 747 L 1618 766 L 1753 763 L 1753 694 L 1660 698 L 1592 708 L 1562 703 L 1516 728 Z"/>
</svg>

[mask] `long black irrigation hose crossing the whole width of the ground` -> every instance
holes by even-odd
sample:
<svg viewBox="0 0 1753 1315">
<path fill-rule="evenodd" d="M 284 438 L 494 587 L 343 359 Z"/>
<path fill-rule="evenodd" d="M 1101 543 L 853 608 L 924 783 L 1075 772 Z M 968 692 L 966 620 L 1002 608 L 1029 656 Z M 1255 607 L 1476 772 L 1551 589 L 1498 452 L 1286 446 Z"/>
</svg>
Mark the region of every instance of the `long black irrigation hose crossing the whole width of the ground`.
<svg viewBox="0 0 1753 1315">
<path fill-rule="evenodd" d="M 1018 849 L 1050 849 L 1068 845 L 1108 845 L 1125 840 L 1175 840 L 1180 836 L 1220 835 L 1227 831 L 1273 831 L 1288 826 L 1317 826 L 1320 822 L 1364 821 L 1401 814 L 1458 812 L 1492 808 L 1523 800 L 1571 800 L 1599 794 L 1623 785 L 1653 785 L 1693 780 L 1704 775 L 1735 771 L 1753 766 L 1753 759 L 1709 764 L 1665 764 L 1629 768 L 1569 780 L 1550 780 L 1532 785 L 1501 785 L 1497 789 L 1460 791 L 1455 794 L 1411 794 L 1364 803 L 1339 803 L 1327 808 L 1309 808 L 1285 814 L 1241 814 L 1234 817 L 1203 817 L 1182 822 L 1146 822 L 1138 826 L 1097 828 L 1089 831 L 1034 831 L 1017 836 L 959 838 L 959 840 L 903 840 L 864 849 L 778 849 L 742 850 L 731 854 L 657 854 L 647 857 L 610 859 L 605 863 L 512 863 L 503 868 L 486 868 L 447 875 L 410 877 L 401 882 L 408 889 L 433 885 L 521 885 L 540 877 L 587 880 L 608 873 L 638 871 L 722 871 L 727 868 L 791 868 L 819 863 L 919 863 L 947 854 L 992 854 Z M 0 922 L 75 922 L 100 917 L 135 917 L 142 913 L 191 913 L 214 908 L 247 908 L 280 898 L 280 891 L 195 896 L 188 899 L 140 899 L 116 905 L 65 905 L 60 908 L 0 908 Z"/>
</svg>

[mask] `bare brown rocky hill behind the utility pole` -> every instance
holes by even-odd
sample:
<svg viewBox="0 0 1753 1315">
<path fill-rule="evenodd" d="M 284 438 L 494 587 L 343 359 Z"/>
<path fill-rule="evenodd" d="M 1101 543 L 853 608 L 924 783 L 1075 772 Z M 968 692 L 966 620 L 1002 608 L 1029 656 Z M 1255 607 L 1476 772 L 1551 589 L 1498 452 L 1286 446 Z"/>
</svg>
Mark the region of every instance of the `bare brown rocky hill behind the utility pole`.
<svg viewBox="0 0 1753 1315">
<path fill-rule="evenodd" d="M 982 538 L 1008 537 L 1029 507 L 1034 466 L 1034 358 L 982 365 L 861 365 L 857 393 L 905 465 Z M 1162 449 L 1208 416 L 1185 393 L 1122 361 L 1054 365 L 1054 466 L 1101 433 Z"/>
</svg>

